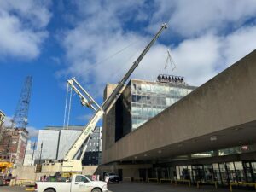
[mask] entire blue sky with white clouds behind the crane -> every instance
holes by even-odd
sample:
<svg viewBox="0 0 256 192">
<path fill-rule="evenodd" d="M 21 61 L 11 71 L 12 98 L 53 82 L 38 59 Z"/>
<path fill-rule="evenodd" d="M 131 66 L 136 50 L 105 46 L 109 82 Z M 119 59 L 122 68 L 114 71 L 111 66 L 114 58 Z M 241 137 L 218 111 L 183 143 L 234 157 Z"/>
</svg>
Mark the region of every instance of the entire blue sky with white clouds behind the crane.
<svg viewBox="0 0 256 192">
<path fill-rule="evenodd" d="M 71 77 L 102 103 L 104 85 L 119 81 L 162 22 L 168 30 L 132 78 L 172 73 L 199 86 L 256 46 L 255 0 L 1 1 L 0 109 L 7 124 L 27 75 L 33 78 L 32 136 L 46 125 L 63 124 Z M 174 71 L 164 69 L 166 49 Z M 85 125 L 89 117 L 73 96 L 70 124 Z"/>
</svg>

